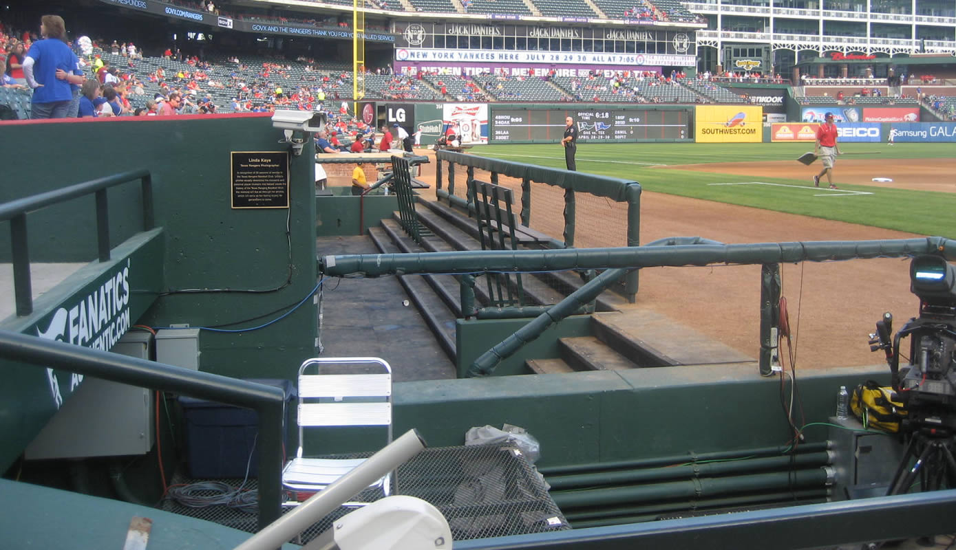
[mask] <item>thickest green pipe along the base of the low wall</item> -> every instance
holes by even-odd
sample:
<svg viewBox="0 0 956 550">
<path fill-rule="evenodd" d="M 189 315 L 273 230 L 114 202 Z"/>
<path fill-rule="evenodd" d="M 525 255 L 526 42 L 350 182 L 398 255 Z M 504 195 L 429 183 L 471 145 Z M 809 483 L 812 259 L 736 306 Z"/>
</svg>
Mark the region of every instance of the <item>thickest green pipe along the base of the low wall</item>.
<svg viewBox="0 0 956 550">
<path fill-rule="evenodd" d="M 675 498 L 732 496 L 758 491 L 779 491 L 786 488 L 805 489 L 808 487 L 823 487 L 826 482 L 827 473 L 822 468 L 815 468 L 795 472 L 694 478 L 653 485 L 572 491 L 554 493 L 552 497 L 557 507 L 563 510 L 608 504 L 673 500 Z"/>
</svg>

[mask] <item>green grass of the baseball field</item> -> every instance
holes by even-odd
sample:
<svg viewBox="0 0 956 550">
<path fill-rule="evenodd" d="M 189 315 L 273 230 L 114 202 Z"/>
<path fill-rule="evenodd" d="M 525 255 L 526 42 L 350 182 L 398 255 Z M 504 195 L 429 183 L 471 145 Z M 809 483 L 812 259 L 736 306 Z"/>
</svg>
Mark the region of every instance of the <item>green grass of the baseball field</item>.
<svg viewBox="0 0 956 550">
<path fill-rule="evenodd" d="M 920 235 L 956 238 L 956 193 L 914 191 L 840 183 L 847 195 L 821 196 L 811 192 L 810 176 L 819 164 L 804 166 L 795 161 L 813 151 L 813 143 L 583 143 L 577 148 L 577 170 L 641 183 L 647 191 L 680 195 L 706 201 L 727 202 L 778 212 L 812 216 L 839 222 L 859 223 Z M 952 143 L 843 143 L 840 159 L 954 159 Z M 486 145 L 472 153 L 495 159 L 564 168 L 558 144 Z M 720 166 L 701 172 L 673 169 L 683 164 L 719 162 L 781 163 L 774 178 L 722 174 Z M 835 175 L 839 182 L 839 162 Z M 662 169 L 662 165 L 670 167 Z M 953 182 L 956 174 L 940 173 L 936 182 Z M 749 182 L 760 181 L 763 184 Z M 876 191 L 876 192 L 875 192 Z M 864 194 L 872 193 L 872 194 Z"/>
</svg>

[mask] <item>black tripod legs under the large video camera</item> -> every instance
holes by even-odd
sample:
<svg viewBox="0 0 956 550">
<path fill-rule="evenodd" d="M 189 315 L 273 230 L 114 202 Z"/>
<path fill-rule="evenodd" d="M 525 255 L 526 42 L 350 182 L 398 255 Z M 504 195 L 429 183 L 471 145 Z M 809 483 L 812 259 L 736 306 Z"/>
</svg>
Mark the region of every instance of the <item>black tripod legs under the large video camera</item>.
<svg viewBox="0 0 956 550">
<path fill-rule="evenodd" d="M 907 493 L 916 481 L 916 476 L 920 476 L 922 492 L 956 487 L 956 458 L 953 458 L 952 452 L 954 444 L 956 435 L 945 428 L 913 431 L 886 495 Z M 912 467 L 909 466 L 911 458 L 916 459 Z"/>
</svg>

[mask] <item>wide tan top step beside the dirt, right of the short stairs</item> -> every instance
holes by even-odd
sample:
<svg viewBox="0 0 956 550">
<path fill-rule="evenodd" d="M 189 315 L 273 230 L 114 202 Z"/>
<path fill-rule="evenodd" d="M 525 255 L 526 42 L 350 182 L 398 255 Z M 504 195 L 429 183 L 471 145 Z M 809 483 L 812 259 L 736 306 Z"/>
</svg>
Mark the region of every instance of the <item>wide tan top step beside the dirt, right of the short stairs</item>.
<svg viewBox="0 0 956 550">
<path fill-rule="evenodd" d="M 600 313 L 593 318 L 602 342 L 639 367 L 750 363 L 754 359 L 650 309 Z"/>
</svg>

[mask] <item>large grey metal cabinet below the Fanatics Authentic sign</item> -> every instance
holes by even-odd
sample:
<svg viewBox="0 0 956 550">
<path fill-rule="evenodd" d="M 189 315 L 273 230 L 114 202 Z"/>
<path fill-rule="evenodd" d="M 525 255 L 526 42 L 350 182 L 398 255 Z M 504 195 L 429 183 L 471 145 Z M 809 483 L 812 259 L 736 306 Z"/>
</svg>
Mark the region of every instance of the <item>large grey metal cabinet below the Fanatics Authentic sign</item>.
<svg viewBox="0 0 956 550">
<path fill-rule="evenodd" d="M 149 360 L 150 332 L 127 332 L 114 353 Z M 27 446 L 28 460 L 145 455 L 153 447 L 153 391 L 85 376 Z"/>
</svg>

